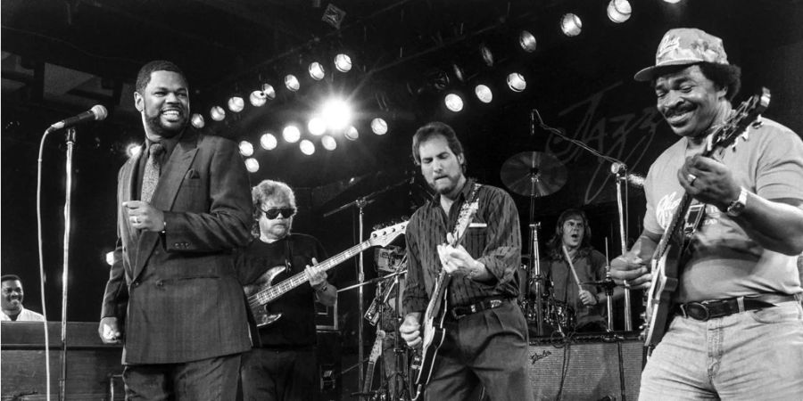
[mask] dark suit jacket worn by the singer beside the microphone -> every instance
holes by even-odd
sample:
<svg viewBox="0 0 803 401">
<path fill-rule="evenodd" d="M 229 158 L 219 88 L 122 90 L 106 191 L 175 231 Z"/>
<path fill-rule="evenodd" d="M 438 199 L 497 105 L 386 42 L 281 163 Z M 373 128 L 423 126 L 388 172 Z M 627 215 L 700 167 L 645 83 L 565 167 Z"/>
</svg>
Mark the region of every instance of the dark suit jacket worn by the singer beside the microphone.
<svg viewBox="0 0 803 401">
<path fill-rule="evenodd" d="M 123 201 L 138 157 L 118 176 L 118 242 L 101 317 L 125 322 L 123 364 L 183 363 L 251 348 L 232 249 L 251 240 L 248 175 L 236 144 L 187 128 L 162 167 L 151 205 L 165 233 L 142 232 Z"/>
</svg>

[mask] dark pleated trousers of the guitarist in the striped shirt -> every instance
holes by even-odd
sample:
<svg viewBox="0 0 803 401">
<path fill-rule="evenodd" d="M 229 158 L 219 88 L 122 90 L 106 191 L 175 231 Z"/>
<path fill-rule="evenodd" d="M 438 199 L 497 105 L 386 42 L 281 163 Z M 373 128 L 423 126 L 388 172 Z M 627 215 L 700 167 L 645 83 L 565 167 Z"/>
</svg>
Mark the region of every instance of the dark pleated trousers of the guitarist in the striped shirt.
<svg viewBox="0 0 803 401">
<path fill-rule="evenodd" d="M 465 400 L 479 386 L 493 401 L 533 399 L 527 372 L 527 323 L 515 302 L 466 315 L 449 316 L 446 338 L 435 357 L 425 398 Z"/>
</svg>

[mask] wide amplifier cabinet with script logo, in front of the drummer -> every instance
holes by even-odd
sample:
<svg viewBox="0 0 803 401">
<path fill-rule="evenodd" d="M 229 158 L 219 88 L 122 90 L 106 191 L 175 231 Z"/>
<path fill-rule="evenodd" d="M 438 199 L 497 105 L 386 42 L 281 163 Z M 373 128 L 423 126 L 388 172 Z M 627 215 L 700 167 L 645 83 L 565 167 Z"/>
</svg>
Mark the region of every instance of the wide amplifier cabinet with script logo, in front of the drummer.
<svg viewBox="0 0 803 401">
<path fill-rule="evenodd" d="M 623 394 L 625 399 L 638 399 L 644 359 L 641 340 L 572 341 L 530 342 L 529 375 L 536 400 L 559 395 L 567 400 L 611 400 L 622 399 Z"/>
</svg>

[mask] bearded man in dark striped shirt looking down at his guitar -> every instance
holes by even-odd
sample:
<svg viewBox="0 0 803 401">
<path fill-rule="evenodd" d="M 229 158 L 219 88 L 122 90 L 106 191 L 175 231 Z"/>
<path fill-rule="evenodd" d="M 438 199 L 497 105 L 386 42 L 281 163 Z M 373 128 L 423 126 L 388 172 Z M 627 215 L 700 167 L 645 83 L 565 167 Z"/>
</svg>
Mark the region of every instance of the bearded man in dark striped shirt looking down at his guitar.
<svg viewBox="0 0 803 401">
<path fill-rule="evenodd" d="M 507 192 L 466 178 L 466 156 L 451 127 L 432 122 L 412 141 L 413 159 L 435 196 L 412 217 L 405 235 L 408 275 L 402 339 L 412 348 L 425 336 L 422 315 L 443 269 L 451 274 L 443 326 L 425 391 L 427 400 L 462 400 L 480 387 L 494 401 L 532 400 L 527 378 L 527 326 L 514 274 L 521 262 L 518 211 Z M 473 193 L 476 192 L 476 193 Z M 463 203 L 478 209 L 463 241 L 444 245 Z M 447 238 L 447 233 L 449 233 Z"/>
</svg>

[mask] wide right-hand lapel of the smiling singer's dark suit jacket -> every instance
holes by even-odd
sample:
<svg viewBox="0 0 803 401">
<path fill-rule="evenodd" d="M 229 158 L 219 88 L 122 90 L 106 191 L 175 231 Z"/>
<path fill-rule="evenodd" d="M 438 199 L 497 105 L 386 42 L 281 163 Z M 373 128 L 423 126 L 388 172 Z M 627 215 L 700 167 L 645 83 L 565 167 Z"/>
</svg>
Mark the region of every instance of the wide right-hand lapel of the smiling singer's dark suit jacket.
<svg viewBox="0 0 803 401">
<path fill-rule="evenodd" d="M 159 184 L 153 191 L 151 206 L 159 210 L 171 210 L 176 201 L 178 189 L 184 180 L 187 170 L 195 160 L 195 153 L 198 151 L 198 135 L 195 131 L 186 130 L 181 137 L 181 141 L 176 144 L 176 148 L 170 154 L 170 160 L 161 170 Z M 134 277 L 136 278 L 145 267 L 145 262 L 153 252 L 153 247 L 159 241 L 159 233 L 144 231 L 139 235 L 137 246 L 137 264 L 134 267 Z"/>
</svg>

